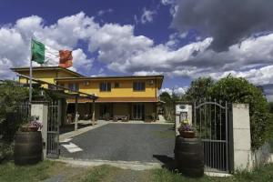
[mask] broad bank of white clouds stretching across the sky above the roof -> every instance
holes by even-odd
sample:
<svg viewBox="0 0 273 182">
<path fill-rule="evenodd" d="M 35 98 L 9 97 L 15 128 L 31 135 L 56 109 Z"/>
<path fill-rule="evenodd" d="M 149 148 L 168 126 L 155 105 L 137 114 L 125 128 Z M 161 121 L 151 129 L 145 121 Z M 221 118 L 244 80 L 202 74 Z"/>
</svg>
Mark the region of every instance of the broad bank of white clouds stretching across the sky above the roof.
<svg viewBox="0 0 273 182">
<path fill-rule="evenodd" d="M 186 33 L 169 35 L 166 43 L 156 45 L 145 35 L 135 35 L 134 25 L 99 25 L 94 17 L 84 13 L 44 25 L 43 18 L 32 15 L 21 18 L 15 25 L 0 27 L 0 77 L 11 77 L 12 66 L 28 66 L 29 40 L 32 35 L 56 49 L 75 49 L 74 67 L 86 75 L 94 59 L 106 68 L 133 75 L 191 77 L 212 76 L 219 78 L 229 73 L 247 77 L 255 84 L 273 83 L 273 34 L 249 37 L 241 44 L 231 45 L 226 52 L 207 49 L 213 38 L 198 39 L 179 45 Z M 67 38 L 69 36 L 69 38 Z M 88 45 L 88 57 L 77 48 L 78 41 Z M 12 44 L 11 44 L 12 43 Z M 99 73 L 103 74 L 103 73 Z"/>
</svg>

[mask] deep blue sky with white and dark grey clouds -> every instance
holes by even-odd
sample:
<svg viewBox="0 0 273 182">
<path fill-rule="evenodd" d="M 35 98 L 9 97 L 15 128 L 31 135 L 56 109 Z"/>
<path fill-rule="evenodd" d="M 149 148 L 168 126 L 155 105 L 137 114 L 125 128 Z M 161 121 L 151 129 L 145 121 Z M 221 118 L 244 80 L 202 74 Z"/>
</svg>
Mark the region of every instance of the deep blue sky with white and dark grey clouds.
<svg viewBox="0 0 273 182">
<path fill-rule="evenodd" d="M 199 76 L 270 87 L 272 9 L 272 0 L 0 0 L 0 79 L 29 66 L 35 37 L 73 50 L 70 69 L 85 76 L 164 75 L 162 91 L 176 93 Z"/>
</svg>

